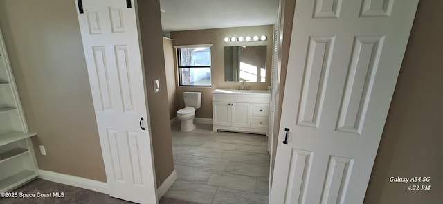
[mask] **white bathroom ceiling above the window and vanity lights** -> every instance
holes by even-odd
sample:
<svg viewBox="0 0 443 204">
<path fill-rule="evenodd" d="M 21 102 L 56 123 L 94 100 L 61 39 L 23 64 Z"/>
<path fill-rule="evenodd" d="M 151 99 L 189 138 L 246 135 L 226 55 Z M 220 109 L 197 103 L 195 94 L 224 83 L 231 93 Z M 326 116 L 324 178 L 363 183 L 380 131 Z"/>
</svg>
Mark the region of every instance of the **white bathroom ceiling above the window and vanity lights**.
<svg viewBox="0 0 443 204">
<path fill-rule="evenodd" d="M 275 24 L 279 0 L 160 0 L 164 32 Z"/>
</svg>

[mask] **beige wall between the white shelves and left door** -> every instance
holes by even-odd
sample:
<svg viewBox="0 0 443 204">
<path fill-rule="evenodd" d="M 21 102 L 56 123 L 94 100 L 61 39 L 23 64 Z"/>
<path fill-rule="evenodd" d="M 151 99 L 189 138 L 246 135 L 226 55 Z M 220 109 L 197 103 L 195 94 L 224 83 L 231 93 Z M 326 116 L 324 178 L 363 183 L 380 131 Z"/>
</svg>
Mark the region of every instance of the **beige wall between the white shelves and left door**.
<svg viewBox="0 0 443 204">
<path fill-rule="evenodd" d="M 0 26 L 39 169 L 106 182 L 75 2 L 1 0 Z"/>
</svg>

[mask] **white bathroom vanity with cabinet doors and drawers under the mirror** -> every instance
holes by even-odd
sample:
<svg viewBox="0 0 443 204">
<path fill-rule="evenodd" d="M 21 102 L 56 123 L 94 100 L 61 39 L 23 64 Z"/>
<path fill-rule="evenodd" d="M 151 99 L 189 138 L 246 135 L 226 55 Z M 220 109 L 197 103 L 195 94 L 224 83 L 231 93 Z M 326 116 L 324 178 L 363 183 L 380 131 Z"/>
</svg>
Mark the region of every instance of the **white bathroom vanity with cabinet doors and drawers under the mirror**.
<svg viewBox="0 0 443 204">
<path fill-rule="evenodd" d="M 266 134 L 270 100 L 268 90 L 215 89 L 213 131 Z"/>
</svg>

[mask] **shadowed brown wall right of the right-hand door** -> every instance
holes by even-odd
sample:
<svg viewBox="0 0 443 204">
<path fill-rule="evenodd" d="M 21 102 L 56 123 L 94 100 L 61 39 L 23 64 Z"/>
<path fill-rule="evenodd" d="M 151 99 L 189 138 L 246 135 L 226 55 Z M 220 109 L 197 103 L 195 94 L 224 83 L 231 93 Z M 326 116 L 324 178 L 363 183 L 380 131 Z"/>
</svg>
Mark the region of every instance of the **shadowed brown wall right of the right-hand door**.
<svg viewBox="0 0 443 204">
<path fill-rule="evenodd" d="M 364 203 L 443 202 L 443 1 L 420 1 Z M 431 183 L 390 183 L 431 176 Z M 408 185 L 431 185 L 410 192 Z"/>
</svg>

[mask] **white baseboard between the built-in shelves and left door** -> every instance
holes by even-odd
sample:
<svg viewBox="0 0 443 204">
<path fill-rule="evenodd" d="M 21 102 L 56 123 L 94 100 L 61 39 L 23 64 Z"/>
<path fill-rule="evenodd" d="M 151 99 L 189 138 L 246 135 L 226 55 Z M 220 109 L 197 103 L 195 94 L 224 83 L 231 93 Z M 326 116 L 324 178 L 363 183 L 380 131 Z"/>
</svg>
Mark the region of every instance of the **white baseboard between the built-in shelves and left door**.
<svg viewBox="0 0 443 204">
<path fill-rule="evenodd" d="M 78 176 L 71 176 L 68 174 L 60 174 L 53 171 L 39 170 L 39 177 L 43 180 L 49 180 L 64 185 L 72 185 L 89 189 L 91 191 L 109 194 L 108 184 L 98 180 L 91 180 L 89 178 L 82 178 Z"/>
</svg>

